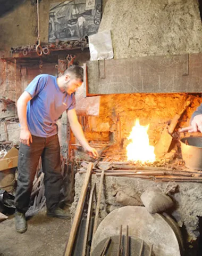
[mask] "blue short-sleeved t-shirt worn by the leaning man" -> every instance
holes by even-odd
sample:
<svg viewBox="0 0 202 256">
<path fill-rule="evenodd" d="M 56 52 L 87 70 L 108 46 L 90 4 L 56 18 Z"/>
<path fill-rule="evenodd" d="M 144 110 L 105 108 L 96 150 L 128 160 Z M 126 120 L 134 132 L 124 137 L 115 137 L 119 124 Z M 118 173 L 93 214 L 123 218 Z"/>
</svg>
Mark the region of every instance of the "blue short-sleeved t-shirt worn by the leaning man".
<svg viewBox="0 0 202 256">
<path fill-rule="evenodd" d="M 32 99 L 27 105 L 28 129 L 32 135 L 51 137 L 57 134 L 57 120 L 65 110 L 75 107 L 75 95 L 61 92 L 57 77 L 42 74 L 36 76 L 26 91 Z"/>
</svg>

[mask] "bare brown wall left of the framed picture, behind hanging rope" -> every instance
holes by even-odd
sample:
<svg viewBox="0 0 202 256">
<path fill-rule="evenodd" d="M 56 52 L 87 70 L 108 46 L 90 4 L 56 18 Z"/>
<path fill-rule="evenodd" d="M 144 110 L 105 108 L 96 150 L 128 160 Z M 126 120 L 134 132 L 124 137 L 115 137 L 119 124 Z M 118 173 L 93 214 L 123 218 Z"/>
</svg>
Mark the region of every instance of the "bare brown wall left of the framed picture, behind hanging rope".
<svg viewBox="0 0 202 256">
<path fill-rule="evenodd" d="M 32 1 L 35 2 L 35 1 Z M 48 42 L 48 21 L 50 3 L 58 0 L 43 0 L 39 4 L 40 39 Z M 35 2 L 36 3 L 36 2 Z M 11 47 L 34 45 L 37 41 L 37 5 L 24 1 L 12 12 L 0 18 L 0 50 L 9 57 Z"/>
</svg>

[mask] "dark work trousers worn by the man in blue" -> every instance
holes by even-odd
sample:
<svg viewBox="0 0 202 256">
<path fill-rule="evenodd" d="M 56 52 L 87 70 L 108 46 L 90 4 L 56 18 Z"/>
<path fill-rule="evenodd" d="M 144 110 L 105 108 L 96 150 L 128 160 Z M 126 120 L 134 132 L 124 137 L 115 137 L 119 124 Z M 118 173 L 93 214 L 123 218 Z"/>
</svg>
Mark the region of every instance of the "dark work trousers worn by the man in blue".
<svg viewBox="0 0 202 256">
<path fill-rule="evenodd" d="M 33 179 L 41 156 L 44 172 L 46 206 L 54 210 L 60 202 L 62 187 L 60 144 L 58 136 L 40 138 L 32 135 L 30 146 L 21 143 L 18 161 L 18 185 L 15 194 L 15 206 L 20 212 L 28 210 Z"/>
</svg>

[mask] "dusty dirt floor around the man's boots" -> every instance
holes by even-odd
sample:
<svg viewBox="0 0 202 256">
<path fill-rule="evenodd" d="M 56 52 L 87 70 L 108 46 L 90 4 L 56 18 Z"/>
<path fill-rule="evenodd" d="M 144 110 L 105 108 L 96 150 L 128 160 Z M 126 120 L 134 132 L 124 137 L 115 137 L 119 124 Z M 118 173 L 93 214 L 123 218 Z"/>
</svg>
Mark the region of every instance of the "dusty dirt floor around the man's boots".
<svg viewBox="0 0 202 256">
<path fill-rule="evenodd" d="M 28 220 L 28 230 L 15 231 L 15 218 L 0 223 L 0 256 L 62 256 L 66 248 L 71 220 L 46 216 L 46 210 Z"/>
</svg>

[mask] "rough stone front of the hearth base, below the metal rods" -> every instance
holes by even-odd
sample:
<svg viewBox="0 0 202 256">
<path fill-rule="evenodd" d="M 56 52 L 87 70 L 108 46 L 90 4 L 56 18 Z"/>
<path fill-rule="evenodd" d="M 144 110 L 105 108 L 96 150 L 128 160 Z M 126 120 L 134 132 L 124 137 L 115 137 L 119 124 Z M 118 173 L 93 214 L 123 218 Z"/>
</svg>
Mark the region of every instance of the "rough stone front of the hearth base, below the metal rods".
<svg viewBox="0 0 202 256">
<path fill-rule="evenodd" d="M 71 207 L 72 217 L 74 215 L 85 174 L 77 173 L 75 176 L 75 197 Z M 91 186 L 96 183 L 96 195 L 98 194 L 100 176 L 93 174 L 91 176 Z M 114 209 L 125 206 L 124 197 L 132 198 L 134 205 L 143 205 L 140 199 L 142 193 L 150 188 L 158 187 L 162 191 L 166 191 L 168 182 L 155 182 L 146 179 L 124 178 L 124 177 L 105 177 L 102 199 L 100 202 L 99 217 L 103 220 L 106 215 Z M 173 185 L 173 183 L 172 183 Z M 194 182 L 174 182 L 178 186 L 178 190 L 171 196 L 175 202 L 175 208 L 169 212 L 180 227 L 186 227 L 187 242 L 196 240 L 199 236 L 198 217 L 202 216 L 202 186 L 201 183 Z M 122 194 L 119 198 L 119 193 Z M 88 197 L 87 197 L 88 198 Z M 117 202 L 118 201 L 118 202 Z M 94 202 L 94 212 L 96 203 Z"/>
</svg>

